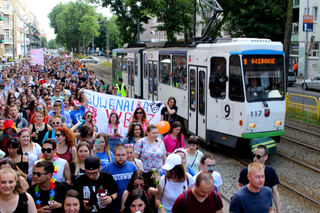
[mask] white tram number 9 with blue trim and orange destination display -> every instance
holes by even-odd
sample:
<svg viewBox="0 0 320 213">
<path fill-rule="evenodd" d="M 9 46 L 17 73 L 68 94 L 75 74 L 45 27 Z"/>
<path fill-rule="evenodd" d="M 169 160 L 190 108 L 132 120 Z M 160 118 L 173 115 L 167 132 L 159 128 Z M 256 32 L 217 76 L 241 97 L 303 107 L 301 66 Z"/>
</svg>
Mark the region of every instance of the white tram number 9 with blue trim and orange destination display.
<svg viewBox="0 0 320 213">
<path fill-rule="evenodd" d="M 276 152 L 285 121 L 281 42 L 230 38 L 125 46 L 113 53 L 113 82 L 121 75 L 128 97 L 167 101 L 173 96 L 179 120 L 200 140 L 228 147 L 265 144 Z"/>
</svg>

